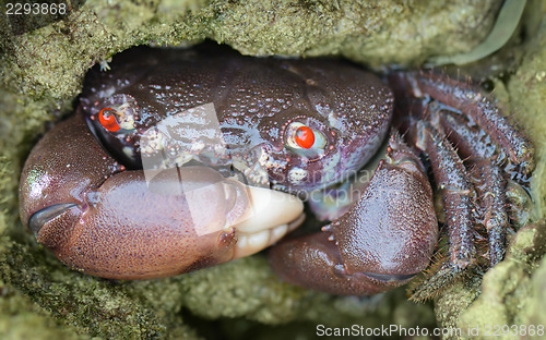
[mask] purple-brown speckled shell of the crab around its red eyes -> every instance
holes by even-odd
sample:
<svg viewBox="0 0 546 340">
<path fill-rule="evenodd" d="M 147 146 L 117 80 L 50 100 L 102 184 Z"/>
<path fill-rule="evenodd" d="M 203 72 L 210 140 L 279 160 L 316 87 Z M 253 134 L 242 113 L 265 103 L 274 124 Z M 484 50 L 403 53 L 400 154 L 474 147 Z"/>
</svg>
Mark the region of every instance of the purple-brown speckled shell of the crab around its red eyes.
<svg viewBox="0 0 546 340">
<path fill-rule="evenodd" d="M 94 119 L 91 125 L 108 151 L 129 168 L 139 167 L 136 146 L 150 126 L 189 112 L 192 119 L 171 126 L 177 135 L 164 146 L 173 162 L 191 155 L 216 167 L 236 163 L 259 182 L 258 162 L 274 187 L 310 191 L 359 169 L 382 142 L 392 114 L 385 85 L 342 61 L 136 49 L 115 58 L 111 70 L 90 74 L 81 109 Z M 217 122 L 199 111 L 211 104 Z M 132 116 L 133 127 L 106 131 L 96 117 L 110 107 Z M 324 145 L 290 148 L 290 126 L 298 123 L 318 131 Z M 227 153 L 211 149 L 217 138 Z"/>
</svg>

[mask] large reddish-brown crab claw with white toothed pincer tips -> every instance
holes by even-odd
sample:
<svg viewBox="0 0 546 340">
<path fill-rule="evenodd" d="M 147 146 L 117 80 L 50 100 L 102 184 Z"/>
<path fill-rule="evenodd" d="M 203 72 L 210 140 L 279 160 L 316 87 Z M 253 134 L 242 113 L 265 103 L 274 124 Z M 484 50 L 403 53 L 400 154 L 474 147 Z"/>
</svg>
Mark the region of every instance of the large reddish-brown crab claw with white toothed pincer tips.
<svg viewBox="0 0 546 340">
<path fill-rule="evenodd" d="M 143 172 L 122 171 L 83 118 L 71 118 L 27 159 L 22 221 L 73 269 L 150 279 L 256 253 L 302 218 L 294 196 L 248 187 L 211 168 L 168 169 L 150 183 Z M 276 219 L 264 222 L 264 215 Z"/>
</svg>

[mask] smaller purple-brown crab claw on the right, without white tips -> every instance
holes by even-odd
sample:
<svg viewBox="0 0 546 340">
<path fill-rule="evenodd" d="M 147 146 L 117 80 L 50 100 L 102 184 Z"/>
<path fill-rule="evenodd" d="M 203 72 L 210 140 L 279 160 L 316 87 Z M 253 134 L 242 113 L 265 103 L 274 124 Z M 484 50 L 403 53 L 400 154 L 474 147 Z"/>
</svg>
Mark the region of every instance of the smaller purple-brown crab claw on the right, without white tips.
<svg viewBox="0 0 546 340">
<path fill-rule="evenodd" d="M 347 212 L 321 233 L 283 240 L 269 258 L 290 283 L 368 295 L 424 270 L 437 240 L 432 191 L 423 166 L 393 135 L 385 160 Z"/>
</svg>

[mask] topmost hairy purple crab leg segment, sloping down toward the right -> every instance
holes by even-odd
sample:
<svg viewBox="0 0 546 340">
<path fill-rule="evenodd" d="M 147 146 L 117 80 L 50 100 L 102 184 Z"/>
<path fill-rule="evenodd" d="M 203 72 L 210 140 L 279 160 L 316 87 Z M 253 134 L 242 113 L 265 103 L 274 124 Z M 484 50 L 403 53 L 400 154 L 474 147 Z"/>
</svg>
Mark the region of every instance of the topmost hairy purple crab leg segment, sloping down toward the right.
<svg viewBox="0 0 546 340">
<path fill-rule="evenodd" d="M 486 96 L 474 87 L 432 73 L 406 73 L 399 75 L 408 82 L 416 97 L 430 96 L 471 117 L 502 149 L 520 171 L 530 174 L 535 165 L 533 147 L 527 137 L 514 129 L 508 118 Z"/>
</svg>

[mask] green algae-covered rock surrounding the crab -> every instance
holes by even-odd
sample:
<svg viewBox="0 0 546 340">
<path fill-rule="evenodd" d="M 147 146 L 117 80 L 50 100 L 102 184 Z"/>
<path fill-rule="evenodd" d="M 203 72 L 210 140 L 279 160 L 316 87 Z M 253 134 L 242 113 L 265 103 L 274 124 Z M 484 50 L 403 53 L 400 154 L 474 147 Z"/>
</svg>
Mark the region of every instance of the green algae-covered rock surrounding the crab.
<svg viewBox="0 0 546 340">
<path fill-rule="evenodd" d="M 431 56 L 472 49 L 489 32 L 499 4 L 104 0 L 72 1 L 72 12 L 63 16 L 25 21 L 1 13 L 0 338 L 199 339 L 222 332 L 234 339 L 307 339 L 322 324 L 432 327 L 430 306 L 408 302 L 403 289 L 370 298 L 318 293 L 281 282 L 261 255 L 162 280 L 108 281 L 71 271 L 21 226 L 19 173 L 46 123 L 72 110 L 85 72 L 96 62 L 107 66 L 112 54 L 132 46 L 188 46 L 210 38 L 252 56 L 339 54 L 373 68 L 418 65 Z M 524 62 L 532 65 L 522 63 L 527 71 L 517 77 L 520 86 L 539 83 L 539 73 L 527 75 L 535 68 L 532 56 L 539 54 L 539 49 L 526 54 Z M 508 101 L 523 117 L 518 108 L 527 102 L 519 97 L 521 87 L 506 85 Z M 535 105 L 541 100 L 536 95 Z M 525 292 L 538 294 L 536 277 Z M 440 298 L 439 321 L 462 325 L 464 316 L 456 317 L 473 307 L 479 284 L 477 278 L 453 294 L 448 290 L 444 299 L 459 302 L 456 308 L 444 303 L 442 312 Z M 533 308 L 532 317 L 539 317 L 539 306 Z"/>
</svg>

